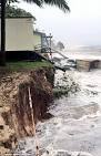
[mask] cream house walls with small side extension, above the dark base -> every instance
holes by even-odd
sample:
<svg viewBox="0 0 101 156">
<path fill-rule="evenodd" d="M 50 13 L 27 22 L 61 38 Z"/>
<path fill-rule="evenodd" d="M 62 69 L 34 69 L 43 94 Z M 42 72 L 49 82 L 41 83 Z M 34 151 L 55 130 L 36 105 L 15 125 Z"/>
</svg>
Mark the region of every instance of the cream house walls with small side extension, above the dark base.
<svg viewBox="0 0 101 156">
<path fill-rule="evenodd" d="M 38 45 L 48 46 L 46 33 L 34 31 L 34 21 L 33 17 L 6 18 L 6 51 L 33 51 Z"/>
</svg>

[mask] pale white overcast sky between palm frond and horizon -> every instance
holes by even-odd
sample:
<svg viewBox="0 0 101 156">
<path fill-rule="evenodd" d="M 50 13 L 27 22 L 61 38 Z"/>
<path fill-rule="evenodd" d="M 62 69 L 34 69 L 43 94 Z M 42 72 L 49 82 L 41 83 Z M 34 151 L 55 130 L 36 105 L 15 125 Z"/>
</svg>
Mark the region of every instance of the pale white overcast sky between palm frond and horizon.
<svg viewBox="0 0 101 156">
<path fill-rule="evenodd" d="M 36 18 L 39 30 L 52 33 L 54 40 L 68 45 L 101 44 L 101 0 L 69 0 L 70 13 L 55 7 L 19 3 Z"/>
</svg>

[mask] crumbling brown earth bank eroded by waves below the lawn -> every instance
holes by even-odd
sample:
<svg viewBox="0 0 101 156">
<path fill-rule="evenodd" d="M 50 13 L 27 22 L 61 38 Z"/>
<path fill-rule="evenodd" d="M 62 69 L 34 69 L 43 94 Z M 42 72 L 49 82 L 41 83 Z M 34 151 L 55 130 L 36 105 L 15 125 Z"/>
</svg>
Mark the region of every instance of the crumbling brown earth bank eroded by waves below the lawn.
<svg viewBox="0 0 101 156">
<path fill-rule="evenodd" d="M 33 135 L 28 87 L 36 123 L 49 117 L 53 76 L 52 67 L 0 74 L 0 156 L 14 148 L 18 138 Z"/>
</svg>

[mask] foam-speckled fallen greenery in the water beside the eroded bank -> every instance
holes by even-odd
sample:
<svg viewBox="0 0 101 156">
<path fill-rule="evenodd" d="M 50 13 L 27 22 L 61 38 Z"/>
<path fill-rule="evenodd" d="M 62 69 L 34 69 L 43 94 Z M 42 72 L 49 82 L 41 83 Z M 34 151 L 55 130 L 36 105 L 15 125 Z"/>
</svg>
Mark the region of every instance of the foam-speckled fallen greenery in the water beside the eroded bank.
<svg viewBox="0 0 101 156">
<path fill-rule="evenodd" d="M 69 96 L 71 93 L 77 93 L 80 90 L 79 84 L 69 72 L 57 71 L 54 79 L 54 97 Z"/>
</svg>

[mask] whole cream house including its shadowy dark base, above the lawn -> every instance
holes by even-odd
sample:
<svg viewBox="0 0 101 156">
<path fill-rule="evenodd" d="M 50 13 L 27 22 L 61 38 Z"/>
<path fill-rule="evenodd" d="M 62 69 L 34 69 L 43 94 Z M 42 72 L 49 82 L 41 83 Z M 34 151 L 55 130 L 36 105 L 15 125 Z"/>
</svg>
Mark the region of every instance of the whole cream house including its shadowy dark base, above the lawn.
<svg viewBox="0 0 101 156">
<path fill-rule="evenodd" d="M 34 31 L 34 21 L 33 17 L 6 18 L 7 61 L 39 60 L 40 56 L 36 52 L 40 53 L 44 50 L 36 49 L 48 46 L 48 41 L 46 33 Z"/>
</svg>

